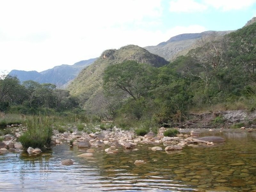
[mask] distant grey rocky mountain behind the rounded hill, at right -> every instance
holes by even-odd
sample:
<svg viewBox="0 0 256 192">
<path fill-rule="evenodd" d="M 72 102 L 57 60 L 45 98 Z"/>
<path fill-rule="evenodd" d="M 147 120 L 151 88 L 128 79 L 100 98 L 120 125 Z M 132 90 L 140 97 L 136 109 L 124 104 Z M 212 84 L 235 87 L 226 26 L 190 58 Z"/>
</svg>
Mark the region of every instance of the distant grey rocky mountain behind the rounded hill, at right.
<svg viewBox="0 0 256 192">
<path fill-rule="evenodd" d="M 163 57 L 165 60 L 173 61 L 178 56 L 186 55 L 189 50 L 198 47 L 200 39 L 207 36 L 224 36 L 232 31 L 204 31 L 202 33 L 186 33 L 170 38 L 156 46 L 144 47 L 149 52 Z"/>
</svg>

